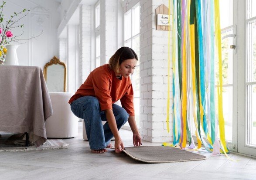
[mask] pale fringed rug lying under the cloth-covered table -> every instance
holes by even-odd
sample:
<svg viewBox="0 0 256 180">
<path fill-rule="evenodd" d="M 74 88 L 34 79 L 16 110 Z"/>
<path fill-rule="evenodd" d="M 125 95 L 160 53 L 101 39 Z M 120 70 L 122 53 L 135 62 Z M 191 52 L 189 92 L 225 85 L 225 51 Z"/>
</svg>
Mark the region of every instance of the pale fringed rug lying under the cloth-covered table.
<svg viewBox="0 0 256 180">
<path fill-rule="evenodd" d="M 0 136 L 0 152 L 1 151 L 10 151 L 10 152 L 19 152 L 19 151 L 31 151 L 31 150 L 45 150 L 45 149 L 62 149 L 68 146 L 65 141 L 62 139 L 48 139 L 40 147 L 33 146 L 24 146 L 24 140 L 14 139 L 12 137 L 23 137 L 23 135 L 14 134 L 14 133 L 1 133 Z"/>
</svg>

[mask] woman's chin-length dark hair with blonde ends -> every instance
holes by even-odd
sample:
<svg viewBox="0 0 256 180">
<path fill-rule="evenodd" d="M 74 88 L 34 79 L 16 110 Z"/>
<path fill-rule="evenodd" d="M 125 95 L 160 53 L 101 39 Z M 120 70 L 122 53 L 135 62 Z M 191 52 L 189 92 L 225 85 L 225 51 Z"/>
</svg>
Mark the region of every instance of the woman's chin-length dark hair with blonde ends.
<svg viewBox="0 0 256 180">
<path fill-rule="evenodd" d="M 109 59 L 109 67 L 114 72 L 120 73 L 119 67 L 122 62 L 126 59 L 136 59 L 138 60 L 137 54 L 133 51 L 133 49 L 129 47 L 121 47 L 119 48 L 113 56 Z"/>
</svg>

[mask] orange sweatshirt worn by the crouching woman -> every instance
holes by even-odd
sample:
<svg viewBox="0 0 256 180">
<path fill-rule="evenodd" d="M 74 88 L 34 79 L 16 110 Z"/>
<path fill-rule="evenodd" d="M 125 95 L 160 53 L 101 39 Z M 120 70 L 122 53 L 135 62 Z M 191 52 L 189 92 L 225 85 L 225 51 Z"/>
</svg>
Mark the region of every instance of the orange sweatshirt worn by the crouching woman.
<svg viewBox="0 0 256 180">
<path fill-rule="evenodd" d="M 122 107 L 130 116 L 134 116 L 133 87 L 130 77 L 116 78 L 109 64 L 94 69 L 68 103 L 71 104 L 77 98 L 86 95 L 94 96 L 99 100 L 101 111 L 112 109 L 112 104 L 120 99 Z"/>
</svg>

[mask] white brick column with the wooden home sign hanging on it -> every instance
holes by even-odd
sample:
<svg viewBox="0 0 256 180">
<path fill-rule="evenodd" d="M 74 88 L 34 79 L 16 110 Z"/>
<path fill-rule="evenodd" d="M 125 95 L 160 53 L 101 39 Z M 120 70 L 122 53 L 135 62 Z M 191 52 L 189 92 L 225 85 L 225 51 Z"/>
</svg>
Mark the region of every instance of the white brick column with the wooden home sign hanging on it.
<svg viewBox="0 0 256 180">
<path fill-rule="evenodd" d="M 170 133 L 167 133 L 166 125 L 168 31 L 156 30 L 156 8 L 163 3 L 168 6 L 168 0 L 140 1 L 140 133 L 150 142 L 173 141 L 171 108 Z M 170 74 L 172 89 L 172 68 Z M 170 107 L 172 103 L 171 92 Z"/>
</svg>

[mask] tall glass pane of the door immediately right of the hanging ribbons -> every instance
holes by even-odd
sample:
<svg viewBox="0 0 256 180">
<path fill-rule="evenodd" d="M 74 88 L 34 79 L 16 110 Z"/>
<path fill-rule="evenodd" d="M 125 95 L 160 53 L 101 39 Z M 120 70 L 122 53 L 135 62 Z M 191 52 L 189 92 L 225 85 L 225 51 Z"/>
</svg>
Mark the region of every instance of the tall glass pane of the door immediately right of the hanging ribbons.
<svg viewBox="0 0 256 180">
<path fill-rule="evenodd" d="M 228 7 L 228 8 L 227 8 Z M 232 142 L 233 138 L 233 37 L 229 36 L 233 32 L 233 0 L 219 1 L 220 8 L 220 28 L 222 37 L 222 103 L 223 115 L 225 120 L 225 138 Z M 217 56 L 216 56 L 217 57 Z M 215 108 L 218 109 L 218 58 L 215 59 Z M 216 111 L 218 113 L 218 111 Z M 217 115 L 217 114 L 216 114 Z M 219 138 L 219 131 L 218 131 Z"/>
</svg>

